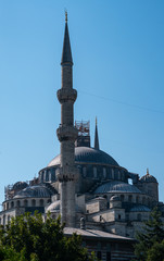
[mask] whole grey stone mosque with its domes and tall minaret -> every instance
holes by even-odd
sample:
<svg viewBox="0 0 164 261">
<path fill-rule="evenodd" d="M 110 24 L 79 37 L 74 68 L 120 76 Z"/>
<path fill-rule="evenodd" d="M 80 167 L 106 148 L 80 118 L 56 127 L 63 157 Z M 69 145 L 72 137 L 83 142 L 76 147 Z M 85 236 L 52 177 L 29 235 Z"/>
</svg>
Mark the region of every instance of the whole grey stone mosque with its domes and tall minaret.
<svg viewBox="0 0 164 261">
<path fill-rule="evenodd" d="M 116 258 L 118 252 L 122 252 L 122 260 L 130 260 L 133 250 L 131 247 L 127 250 L 127 243 L 128 246 L 134 243 L 151 210 L 157 207 L 164 216 L 157 181 L 149 170 L 141 177 L 129 172 L 102 151 L 97 122 L 93 148 L 89 122 L 76 121 L 74 124 L 77 91 L 73 89 L 67 17 L 61 66 L 62 87 L 58 90 L 61 123 L 56 129 L 61 152 L 39 171 L 37 178 L 5 187 L 0 224 L 5 225 L 12 216 L 24 212 L 38 210 L 43 219 L 50 212 L 53 219 L 61 215 L 66 234 L 76 232 L 88 240 L 90 238 L 92 246 L 97 239 L 99 256 L 105 245 L 102 260 L 121 260 Z M 91 236 L 92 232 L 96 238 Z"/>
</svg>

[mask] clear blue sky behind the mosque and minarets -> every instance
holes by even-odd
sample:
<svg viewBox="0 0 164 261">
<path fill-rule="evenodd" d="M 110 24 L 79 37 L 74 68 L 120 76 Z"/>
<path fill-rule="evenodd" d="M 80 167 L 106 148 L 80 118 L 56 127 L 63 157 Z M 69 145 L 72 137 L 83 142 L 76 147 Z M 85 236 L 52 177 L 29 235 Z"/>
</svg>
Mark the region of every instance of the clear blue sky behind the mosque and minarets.
<svg viewBox="0 0 164 261">
<path fill-rule="evenodd" d="M 93 145 L 160 184 L 164 201 L 164 1 L 0 1 L 0 202 L 60 152 L 64 9 L 78 91 L 75 120 Z"/>
</svg>

